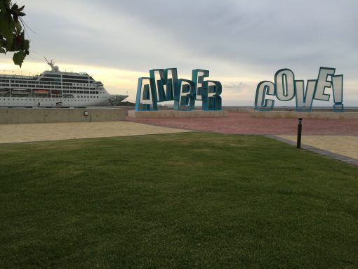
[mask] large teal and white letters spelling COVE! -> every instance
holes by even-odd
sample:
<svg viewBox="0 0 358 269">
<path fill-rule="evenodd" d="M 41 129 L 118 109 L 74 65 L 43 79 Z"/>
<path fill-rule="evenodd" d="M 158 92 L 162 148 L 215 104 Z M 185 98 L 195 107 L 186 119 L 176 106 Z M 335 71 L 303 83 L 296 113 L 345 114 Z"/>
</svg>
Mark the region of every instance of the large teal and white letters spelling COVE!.
<svg viewBox="0 0 358 269">
<path fill-rule="evenodd" d="M 281 101 L 289 101 L 296 97 L 296 110 L 307 112 L 312 110 L 313 100 L 329 101 L 333 93 L 333 111 L 343 112 L 343 74 L 335 75 L 335 68 L 321 67 L 317 79 L 296 80 L 293 72 L 287 68 L 274 75 L 274 83 L 261 81 L 256 88 L 256 110 L 269 111 L 274 107 L 274 97 Z"/>
</svg>

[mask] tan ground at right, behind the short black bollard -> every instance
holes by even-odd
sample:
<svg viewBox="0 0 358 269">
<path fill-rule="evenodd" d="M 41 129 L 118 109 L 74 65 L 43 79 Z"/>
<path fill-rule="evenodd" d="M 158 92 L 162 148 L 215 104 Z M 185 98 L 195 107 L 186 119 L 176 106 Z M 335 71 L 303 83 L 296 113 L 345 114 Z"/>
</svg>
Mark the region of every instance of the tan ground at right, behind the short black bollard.
<svg viewBox="0 0 358 269">
<path fill-rule="evenodd" d="M 296 142 L 296 136 L 279 136 Z M 358 136 L 302 136 L 301 143 L 358 159 Z"/>
</svg>

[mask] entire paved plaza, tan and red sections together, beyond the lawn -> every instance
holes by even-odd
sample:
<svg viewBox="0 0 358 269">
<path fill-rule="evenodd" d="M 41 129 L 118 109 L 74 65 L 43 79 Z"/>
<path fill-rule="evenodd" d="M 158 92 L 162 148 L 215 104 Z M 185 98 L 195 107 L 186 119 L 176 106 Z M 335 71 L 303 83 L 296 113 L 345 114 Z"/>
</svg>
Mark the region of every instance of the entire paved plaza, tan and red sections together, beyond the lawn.
<svg viewBox="0 0 358 269">
<path fill-rule="evenodd" d="M 294 143 L 296 141 L 297 124 L 297 119 L 251 118 L 248 113 L 229 113 L 228 117 L 225 118 L 127 118 L 127 122 L 0 124 L 0 143 L 136 136 L 187 131 L 271 135 L 273 138 Z M 333 152 L 333 154 L 353 159 L 355 162 L 358 160 L 358 120 L 303 119 L 302 143 L 307 146 L 307 149 L 314 147 L 324 152 Z"/>
</svg>

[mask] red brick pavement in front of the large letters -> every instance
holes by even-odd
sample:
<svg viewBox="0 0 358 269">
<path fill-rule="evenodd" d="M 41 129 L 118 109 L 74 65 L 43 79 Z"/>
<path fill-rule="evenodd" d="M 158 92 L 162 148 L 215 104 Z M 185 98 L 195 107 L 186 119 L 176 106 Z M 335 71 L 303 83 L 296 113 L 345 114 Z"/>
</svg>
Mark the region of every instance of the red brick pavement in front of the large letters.
<svg viewBox="0 0 358 269">
<path fill-rule="evenodd" d="M 194 131 L 240 134 L 297 133 L 298 119 L 251 118 L 248 113 L 228 113 L 224 118 L 127 119 L 129 122 L 154 124 Z M 358 136 L 357 119 L 303 119 L 303 135 Z"/>
</svg>

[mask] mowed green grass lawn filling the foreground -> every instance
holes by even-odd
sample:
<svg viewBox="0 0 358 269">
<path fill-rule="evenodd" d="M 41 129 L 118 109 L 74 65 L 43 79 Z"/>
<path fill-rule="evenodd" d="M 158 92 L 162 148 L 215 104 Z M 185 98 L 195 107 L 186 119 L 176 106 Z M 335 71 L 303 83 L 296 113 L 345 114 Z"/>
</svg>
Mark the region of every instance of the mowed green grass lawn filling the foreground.
<svg viewBox="0 0 358 269">
<path fill-rule="evenodd" d="M 358 268 L 357 175 L 262 136 L 0 145 L 0 268 Z"/>
</svg>

